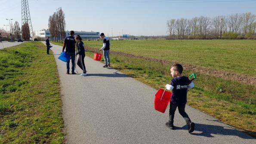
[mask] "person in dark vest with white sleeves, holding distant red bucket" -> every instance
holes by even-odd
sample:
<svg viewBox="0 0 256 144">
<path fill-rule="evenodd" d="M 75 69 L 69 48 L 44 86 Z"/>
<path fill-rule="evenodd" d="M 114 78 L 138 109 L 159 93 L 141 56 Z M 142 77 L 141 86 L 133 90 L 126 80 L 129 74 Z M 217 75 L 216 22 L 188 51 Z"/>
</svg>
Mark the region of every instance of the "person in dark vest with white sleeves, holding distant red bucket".
<svg viewBox="0 0 256 144">
<path fill-rule="evenodd" d="M 110 58 L 109 58 L 109 49 L 110 49 L 110 43 L 109 38 L 105 37 L 104 33 L 100 34 L 100 37 L 103 39 L 103 46 L 100 51 L 103 51 L 103 57 L 105 61 L 105 65 L 103 67 L 110 67 Z"/>
</svg>

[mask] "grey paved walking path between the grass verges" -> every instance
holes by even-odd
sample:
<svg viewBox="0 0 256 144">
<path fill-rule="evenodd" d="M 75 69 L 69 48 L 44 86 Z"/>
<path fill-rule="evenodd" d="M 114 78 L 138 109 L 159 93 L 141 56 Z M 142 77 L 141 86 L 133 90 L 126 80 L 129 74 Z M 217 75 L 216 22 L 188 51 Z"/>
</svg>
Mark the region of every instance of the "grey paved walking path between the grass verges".
<svg viewBox="0 0 256 144">
<path fill-rule="evenodd" d="M 88 57 L 88 76 L 67 75 L 65 63 L 57 58 L 62 47 L 52 46 L 67 144 L 256 144 L 249 135 L 189 106 L 186 112 L 196 123 L 195 131 L 188 133 L 178 110 L 177 129 L 171 130 L 165 127 L 169 109 L 166 113 L 154 110 L 155 89 Z"/>
</svg>

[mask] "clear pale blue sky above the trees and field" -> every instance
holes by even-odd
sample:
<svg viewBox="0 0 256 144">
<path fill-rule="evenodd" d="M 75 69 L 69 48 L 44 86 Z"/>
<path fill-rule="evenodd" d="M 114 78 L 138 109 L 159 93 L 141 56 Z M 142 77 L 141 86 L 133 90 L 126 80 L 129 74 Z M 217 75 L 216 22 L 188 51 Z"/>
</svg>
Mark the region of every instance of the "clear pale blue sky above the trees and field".
<svg viewBox="0 0 256 144">
<path fill-rule="evenodd" d="M 166 22 L 172 18 L 256 14 L 256 0 L 234 1 L 238 0 L 28 0 L 28 3 L 34 31 L 47 29 L 49 15 L 62 7 L 68 31 L 97 31 L 111 36 L 113 28 L 113 35 L 117 36 L 167 35 Z M 13 23 L 18 21 L 21 25 L 21 0 L 0 0 L 0 8 L 0 28 L 9 25 L 6 18 L 13 18 Z"/>
</svg>

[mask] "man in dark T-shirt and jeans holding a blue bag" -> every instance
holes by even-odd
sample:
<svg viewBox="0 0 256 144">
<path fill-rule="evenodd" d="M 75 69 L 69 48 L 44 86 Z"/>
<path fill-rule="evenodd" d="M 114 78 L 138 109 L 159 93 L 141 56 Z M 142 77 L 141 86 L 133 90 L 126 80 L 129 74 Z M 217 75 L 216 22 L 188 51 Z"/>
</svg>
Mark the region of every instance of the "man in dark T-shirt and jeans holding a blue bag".
<svg viewBox="0 0 256 144">
<path fill-rule="evenodd" d="M 75 45 L 76 45 L 76 40 L 74 38 L 74 31 L 70 31 L 69 32 L 69 36 L 65 37 L 64 40 L 64 44 L 63 44 L 63 48 L 62 48 L 62 52 L 64 52 L 64 50 L 66 49 L 66 53 L 71 57 L 71 62 L 72 62 L 72 74 L 75 74 L 74 70 L 75 70 L 75 56 L 76 56 L 76 49 L 75 49 Z M 69 61 L 67 61 L 67 73 L 69 74 Z"/>
</svg>

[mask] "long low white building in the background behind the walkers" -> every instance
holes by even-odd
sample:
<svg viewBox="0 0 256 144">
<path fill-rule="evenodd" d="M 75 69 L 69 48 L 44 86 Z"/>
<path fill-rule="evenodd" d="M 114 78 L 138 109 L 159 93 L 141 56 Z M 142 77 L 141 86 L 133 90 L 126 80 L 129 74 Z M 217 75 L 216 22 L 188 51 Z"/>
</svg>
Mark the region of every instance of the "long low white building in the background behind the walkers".
<svg viewBox="0 0 256 144">
<path fill-rule="evenodd" d="M 69 36 L 69 31 L 65 31 L 66 32 L 66 36 Z M 83 40 L 95 40 L 95 39 L 99 39 L 99 32 L 88 32 L 88 31 L 74 31 L 75 32 L 75 36 L 78 34 L 80 35 L 80 37 Z M 49 39 L 51 40 L 51 35 L 49 30 L 42 30 L 42 31 L 36 31 L 36 37 L 39 40 L 46 40 L 46 37 L 49 37 Z M 64 38 L 63 38 L 64 39 Z"/>
</svg>

